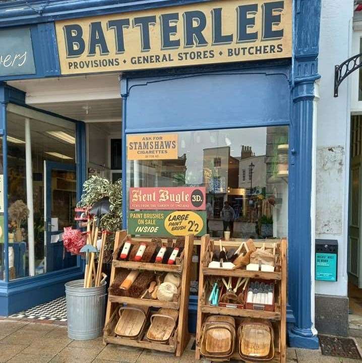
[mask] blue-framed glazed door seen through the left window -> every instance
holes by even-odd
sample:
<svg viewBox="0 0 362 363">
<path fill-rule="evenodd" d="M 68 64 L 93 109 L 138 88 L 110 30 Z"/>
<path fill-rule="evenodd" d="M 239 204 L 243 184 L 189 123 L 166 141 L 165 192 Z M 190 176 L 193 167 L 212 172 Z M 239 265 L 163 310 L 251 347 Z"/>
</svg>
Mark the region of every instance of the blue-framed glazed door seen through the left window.
<svg viewBox="0 0 362 363">
<path fill-rule="evenodd" d="M 76 165 L 44 161 L 44 244 L 45 271 L 77 265 L 77 256 L 63 246 L 64 227 L 74 224 L 77 204 Z"/>
</svg>

